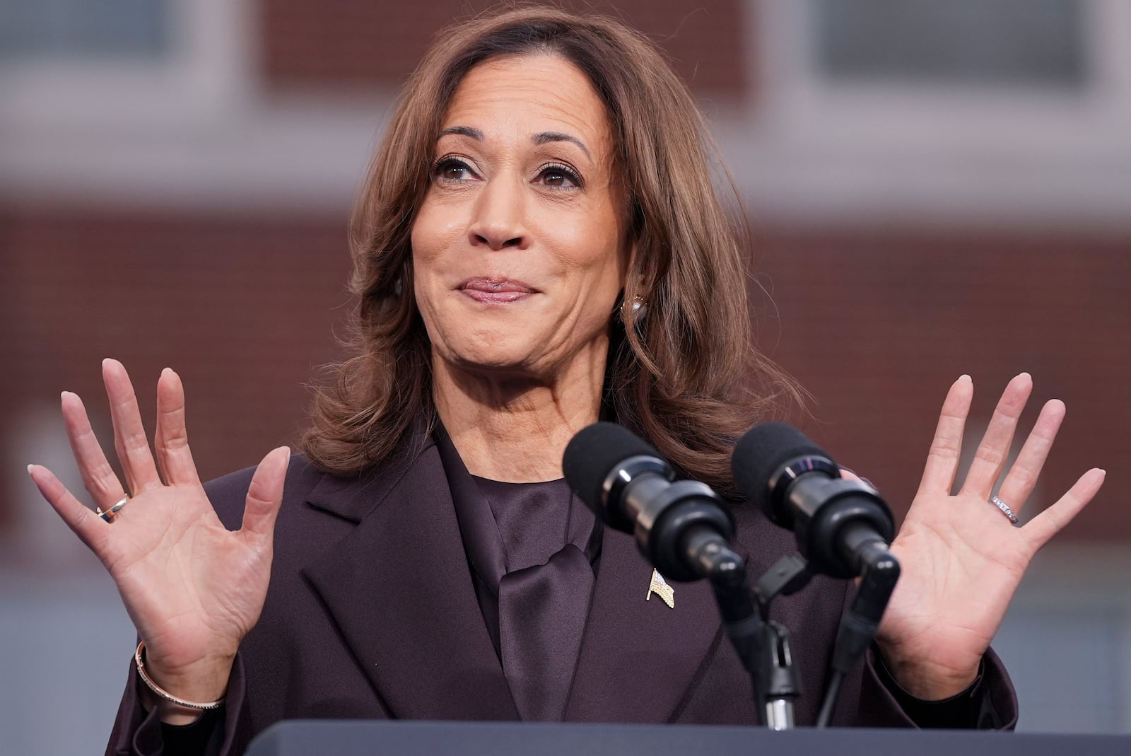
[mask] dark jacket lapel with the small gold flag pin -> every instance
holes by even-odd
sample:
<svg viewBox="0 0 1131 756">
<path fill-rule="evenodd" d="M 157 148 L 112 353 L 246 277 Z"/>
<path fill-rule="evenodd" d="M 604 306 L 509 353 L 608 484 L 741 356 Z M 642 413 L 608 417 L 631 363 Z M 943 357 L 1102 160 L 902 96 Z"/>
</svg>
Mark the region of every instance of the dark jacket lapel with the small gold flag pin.
<svg viewBox="0 0 1131 756">
<path fill-rule="evenodd" d="M 634 539 L 605 527 L 601 566 L 567 721 L 668 722 L 718 642 L 710 586 L 671 583 L 675 608 L 646 601 L 651 566 Z"/>
</svg>

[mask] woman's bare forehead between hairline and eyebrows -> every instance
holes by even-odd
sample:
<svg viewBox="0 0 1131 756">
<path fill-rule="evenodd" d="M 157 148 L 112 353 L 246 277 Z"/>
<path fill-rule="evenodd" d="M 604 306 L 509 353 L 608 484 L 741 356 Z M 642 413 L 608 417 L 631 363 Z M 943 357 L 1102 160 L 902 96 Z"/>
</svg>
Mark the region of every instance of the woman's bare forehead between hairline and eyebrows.
<svg viewBox="0 0 1131 756">
<path fill-rule="evenodd" d="M 467 126 L 486 138 L 562 131 L 603 156 L 612 149 L 605 105 L 588 77 L 552 54 L 492 58 L 460 80 L 441 129 Z M 597 157 L 594 154 L 594 157 Z"/>
</svg>

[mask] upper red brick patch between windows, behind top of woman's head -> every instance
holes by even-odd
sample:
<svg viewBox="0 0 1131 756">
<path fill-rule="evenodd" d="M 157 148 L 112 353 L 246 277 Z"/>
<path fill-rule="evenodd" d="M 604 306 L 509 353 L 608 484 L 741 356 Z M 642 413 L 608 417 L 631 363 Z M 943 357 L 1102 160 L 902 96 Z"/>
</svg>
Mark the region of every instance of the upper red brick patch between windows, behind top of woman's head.
<svg viewBox="0 0 1131 756">
<path fill-rule="evenodd" d="M 437 32 L 493 5 L 485 0 L 261 0 L 262 69 L 275 87 L 399 84 Z M 628 20 L 661 43 L 699 93 L 742 96 L 746 89 L 743 3 L 739 0 L 571 0 L 558 5 Z"/>
</svg>

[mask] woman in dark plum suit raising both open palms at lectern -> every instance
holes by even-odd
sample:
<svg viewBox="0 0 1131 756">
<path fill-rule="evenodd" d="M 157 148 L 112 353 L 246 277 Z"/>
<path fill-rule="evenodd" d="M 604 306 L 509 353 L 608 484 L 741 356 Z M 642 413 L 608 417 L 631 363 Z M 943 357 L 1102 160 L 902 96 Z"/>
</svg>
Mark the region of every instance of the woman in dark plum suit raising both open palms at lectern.
<svg viewBox="0 0 1131 756">
<path fill-rule="evenodd" d="M 615 22 L 520 9 L 457 26 L 409 80 L 361 197 L 357 354 L 304 455 L 275 449 L 206 490 L 176 373 L 158 380 L 155 464 L 106 361 L 123 484 L 63 395 L 106 513 L 29 472 L 144 642 L 109 753 L 240 753 L 296 716 L 753 721 L 709 591 L 642 601 L 631 539 L 560 480 L 568 440 L 604 415 L 734 498 L 729 449 L 772 398 L 743 398 L 743 381 L 783 385 L 736 326 L 739 244 L 703 135 L 655 49 Z M 840 723 L 1013 721 L 990 639 L 1031 556 L 1103 481 L 1089 471 L 1024 529 L 987 502 L 1030 390 L 1025 373 L 1009 384 L 950 496 L 973 394 L 967 377 L 951 387 L 892 544 L 904 577 L 879 654 L 846 684 Z M 1045 405 L 1004 476 L 1013 509 L 1063 413 Z M 791 550 L 735 515 L 752 570 Z M 777 607 L 802 723 L 844 600 L 815 579 Z"/>
</svg>

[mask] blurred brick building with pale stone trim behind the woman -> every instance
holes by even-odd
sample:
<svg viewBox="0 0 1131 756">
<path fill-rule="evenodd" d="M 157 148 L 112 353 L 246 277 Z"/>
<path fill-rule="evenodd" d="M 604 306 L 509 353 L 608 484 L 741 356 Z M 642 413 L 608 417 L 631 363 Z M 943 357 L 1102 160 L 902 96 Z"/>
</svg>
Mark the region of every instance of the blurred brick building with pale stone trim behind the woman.
<svg viewBox="0 0 1131 756">
<path fill-rule="evenodd" d="M 571 5 L 564 2 L 564 5 Z M 1069 407 L 1030 502 L 1090 466 L 995 647 L 1020 728 L 1131 731 L 1131 3 L 589 0 L 657 40 L 753 229 L 792 418 L 906 508 L 949 384 Z M 96 753 L 133 634 L 24 467 L 100 361 L 188 387 L 205 476 L 295 437 L 338 354 L 346 223 L 392 97 L 480 0 L 0 0 L 0 731 Z M 152 422 L 152 410 L 147 421 Z M 107 440 L 109 444 L 109 440 Z M 988 506 L 988 505 L 987 505 Z M 740 695 L 736 693 L 736 695 Z M 742 693 L 741 695 L 745 695 Z"/>
</svg>

